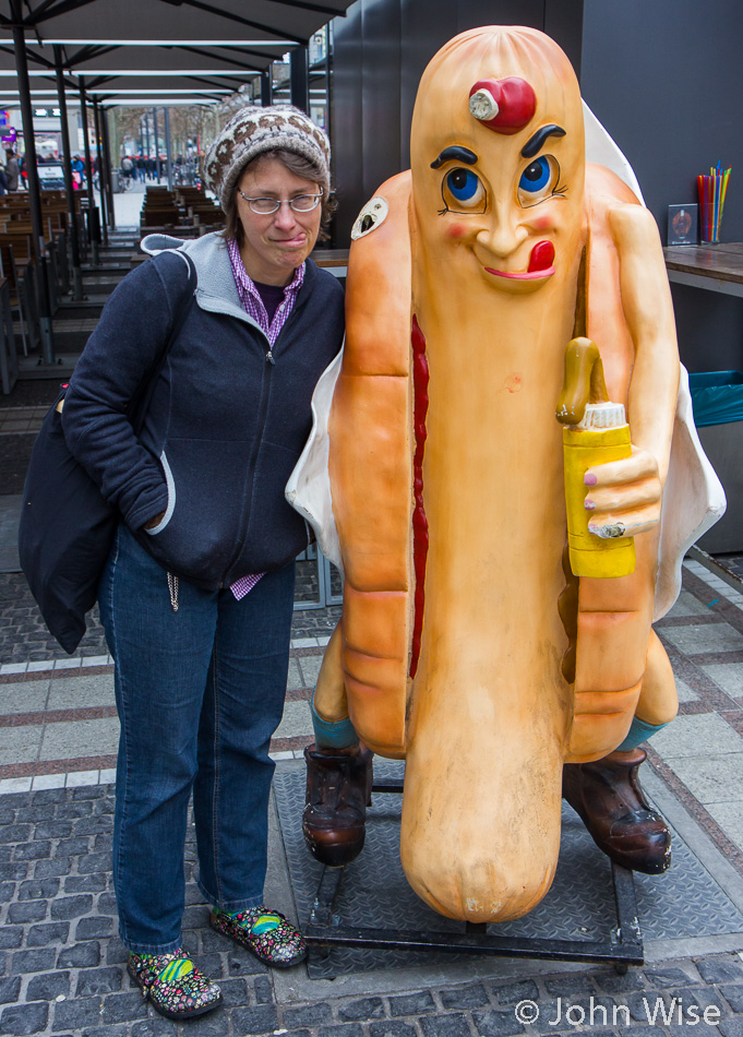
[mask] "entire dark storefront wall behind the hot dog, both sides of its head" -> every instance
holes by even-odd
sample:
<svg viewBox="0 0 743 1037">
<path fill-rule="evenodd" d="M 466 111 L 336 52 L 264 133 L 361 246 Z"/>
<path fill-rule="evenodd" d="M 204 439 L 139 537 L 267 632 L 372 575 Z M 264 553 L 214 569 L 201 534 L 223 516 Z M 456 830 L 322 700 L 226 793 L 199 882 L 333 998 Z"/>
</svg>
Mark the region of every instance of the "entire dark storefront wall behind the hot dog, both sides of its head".
<svg viewBox="0 0 743 1037">
<path fill-rule="evenodd" d="M 563 47 L 663 239 L 667 206 L 696 200 L 695 176 L 732 166 L 722 236 L 743 241 L 741 0 L 357 0 L 334 22 L 337 247 L 380 183 L 408 167 L 426 64 L 486 24 L 531 25 Z M 681 286 L 673 297 L 688 369 L 743 369 L 743 300 Z"/>
</svg>

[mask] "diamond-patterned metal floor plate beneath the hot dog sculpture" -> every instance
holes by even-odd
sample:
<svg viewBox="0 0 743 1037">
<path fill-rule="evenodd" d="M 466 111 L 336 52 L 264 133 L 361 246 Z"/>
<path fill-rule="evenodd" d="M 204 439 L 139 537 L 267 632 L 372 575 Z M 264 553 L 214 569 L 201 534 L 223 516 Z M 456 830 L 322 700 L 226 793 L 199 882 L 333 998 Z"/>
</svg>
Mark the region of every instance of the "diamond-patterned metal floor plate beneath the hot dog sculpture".
<svg viewBox="0 0 743 1037">
<path fill-rule="evenodd" d="M 402 777 L 404 765 L 374 760 L 378 778 Z M 304 771 L 287 768 L 274 779 L 279 822 L 299 919 L 307 923 L 323 875 L 301 832 Z M 399 862 L 400 797 L 374 795 L 368 812 L 367 844 L 346 870 L 336 902 L 335 923 L 348 929 L 384 929 L 462 937 L 463 923 L 427 907 L 405 880 Z M 638 917 L 646 939 L 715 935 L 743 929 L 743 915 L 674 833 L 673 863 L 657 878 L 635 875 Z M 563 804 L 563 837 L 552 889 L 534 911 L 513 922 L 489 926 L 498 938 L 537 941 L 607 941 L 616 925 L 609 862 L 576 814 Z M 503 952 L 501 952 L 503 953 Z M 456 953 L 421 951 L 416 964 L 464 961 Z M 313 950 L 311 978 L 410 966 L 399 950 L 333 947 Z"/>
</svg>

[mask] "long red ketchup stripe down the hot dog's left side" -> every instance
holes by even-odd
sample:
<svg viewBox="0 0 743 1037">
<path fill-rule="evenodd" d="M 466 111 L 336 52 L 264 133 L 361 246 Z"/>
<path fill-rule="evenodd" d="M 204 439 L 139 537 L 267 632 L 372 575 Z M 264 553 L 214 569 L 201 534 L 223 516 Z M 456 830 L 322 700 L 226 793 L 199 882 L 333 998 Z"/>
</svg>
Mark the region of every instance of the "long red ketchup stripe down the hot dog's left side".
<svg viewBox="0 0 743 1037">
<path fill-rule="evenodd" d="M 423 607 L 426 605 L 426 559 L 429 552 L 429 524 L 423 506 L 423 451 L 426 450 L 426 416 L 429 409 L 429 361 L 426 356 L 426 338 L 412 318 L 412 427 L 416 434 L 416 453 L 412 458 L 412 496 L 416 502 L 412 512 L 412 562 L 416 570 L 416 597 L 410 652 L 410 677 L 416 676 L 420 658 L 420 641 L 423 633 Z"/>
</svg>

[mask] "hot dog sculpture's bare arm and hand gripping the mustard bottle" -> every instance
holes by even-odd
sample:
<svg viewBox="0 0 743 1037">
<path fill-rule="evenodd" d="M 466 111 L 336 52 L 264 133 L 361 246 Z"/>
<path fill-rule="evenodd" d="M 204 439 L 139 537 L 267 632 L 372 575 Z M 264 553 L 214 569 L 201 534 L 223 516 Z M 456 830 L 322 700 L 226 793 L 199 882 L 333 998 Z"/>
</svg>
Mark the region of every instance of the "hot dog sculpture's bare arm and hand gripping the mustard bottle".
<svg viewBox="0 0 743 1037">
<path fill-rule="evenodd" d="M 620 258 L 622 308 L 635 345 L 627 397 L 633 450 L 625 461 L 588 469 L 586 506 L 592 512 L 591 532 L 621 522 L 627 535 L 635 535 L 660 518 L 679 393 L 679 349 L 652 216 L 639 205 L 620 204 L 609 218 Z"/>
</svg>

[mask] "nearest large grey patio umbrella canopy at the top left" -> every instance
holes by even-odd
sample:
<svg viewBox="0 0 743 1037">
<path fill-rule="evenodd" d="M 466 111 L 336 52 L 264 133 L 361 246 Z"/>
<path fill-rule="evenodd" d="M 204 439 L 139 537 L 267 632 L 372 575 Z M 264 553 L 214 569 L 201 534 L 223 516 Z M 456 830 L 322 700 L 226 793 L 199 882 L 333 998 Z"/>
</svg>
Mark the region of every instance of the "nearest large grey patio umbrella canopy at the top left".
<svg viewBox="0 0 743 1037">
<path fill-rule="evenodd" d="M 163 105 L 163 90 L 189 87 L 216 100 L 304 46 L 348 7 L 348 0 L 0 0 L 0 72 L 16 68 L 11 34 L 21 26 L 32 90 L 43 88 L 45 71 L 53 79 L 59 45 L 65 73 L 84 76 L 92 93 L 108 87 L 117 104 L 127 103 L 122 91 L 147 88 L 149 98 L 130 103 Z M 19 88 L 0 75 L 0 88 L 12 86 Z"/>
</svg>

